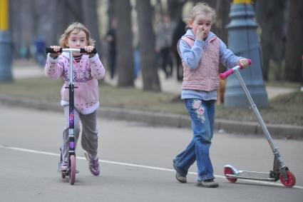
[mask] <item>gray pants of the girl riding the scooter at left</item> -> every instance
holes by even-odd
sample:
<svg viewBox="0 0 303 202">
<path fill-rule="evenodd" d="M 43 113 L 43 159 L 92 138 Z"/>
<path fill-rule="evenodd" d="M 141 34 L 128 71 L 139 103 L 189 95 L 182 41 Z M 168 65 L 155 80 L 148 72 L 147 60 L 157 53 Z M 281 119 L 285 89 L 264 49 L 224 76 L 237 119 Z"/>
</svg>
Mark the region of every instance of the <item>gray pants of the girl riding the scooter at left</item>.
<svg viewBox="0 0 303 202">
<path fill-rule="evenodd" d="M 63 131 L 63 145 L 61 146 L 61 152 L 63 161 L 68 161 L 69 106 L 63 106 L 63 109 L 66 117 L 66 127 Z M 91 158 L 95 159 L 98 151 L 97 111 L 89 114 L 81 114 L 75 109 L 74 120 L 75 145 L 77 145 L 79 138 L 81 121 L 81 146 L 88 152 Z"/>
</svg>

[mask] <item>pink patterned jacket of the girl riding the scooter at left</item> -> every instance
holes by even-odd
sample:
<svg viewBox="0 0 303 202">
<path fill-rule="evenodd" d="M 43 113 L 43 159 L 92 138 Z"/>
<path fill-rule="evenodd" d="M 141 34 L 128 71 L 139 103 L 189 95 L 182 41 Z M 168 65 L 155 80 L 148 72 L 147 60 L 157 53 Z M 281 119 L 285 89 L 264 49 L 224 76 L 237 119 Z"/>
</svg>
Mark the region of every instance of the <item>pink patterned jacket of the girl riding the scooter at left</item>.
<svg viewBox="0 0 303 202">
<path fill-rule="evenodd" d="M 68 54 L 63 53 L 57 59 L 48 55 L 45 74 L 50 79 L 63 78 L 64 84 L 61 88 L 61 105 L 68 105 L 68 81 L 69 81 L 69 59 Z M 75 84 L 74 103 L 78 112 L 83 114 L 93 113 L 99 106 L 98 80 L 103 79 L 106 74 L 98 54 L 89 59 L 83 55 L 77 63 L 73 60 L 73 81 Z"/>
</svg>

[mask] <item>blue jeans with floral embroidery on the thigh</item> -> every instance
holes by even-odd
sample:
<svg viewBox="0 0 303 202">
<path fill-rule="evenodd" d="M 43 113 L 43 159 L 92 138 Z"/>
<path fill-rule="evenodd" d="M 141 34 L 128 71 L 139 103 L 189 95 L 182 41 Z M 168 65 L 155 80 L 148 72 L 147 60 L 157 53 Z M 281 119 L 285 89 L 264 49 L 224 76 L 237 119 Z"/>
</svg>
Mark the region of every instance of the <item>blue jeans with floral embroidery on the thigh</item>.
<svg viewBox="0 0 303 202">
<path fill-rule="evenodd" d="M 185 99 L 192 122 L 193 137 L 185 151 L 175 157 L 175 168 L 186 176 L 197 160 L 197 178 L 201 181 L 215 178 L 210 161 L 210 144 L 215 122 L 215 101 Z"/>
</svg>

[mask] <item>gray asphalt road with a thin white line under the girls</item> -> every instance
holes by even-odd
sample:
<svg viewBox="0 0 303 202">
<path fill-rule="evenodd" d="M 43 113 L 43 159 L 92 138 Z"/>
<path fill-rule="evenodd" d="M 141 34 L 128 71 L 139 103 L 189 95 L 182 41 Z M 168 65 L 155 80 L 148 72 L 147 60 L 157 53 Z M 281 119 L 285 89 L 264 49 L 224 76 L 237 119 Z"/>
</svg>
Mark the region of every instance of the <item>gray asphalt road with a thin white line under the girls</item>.
<svg viewBox="0 0 303 202">
<path fill-rule="evenodd" d="M 196 186 L 195 164 L 188 183 L 175 180 L 172 159 L 187 146 L 187 128 L 98 119 L 101 176 L 93 176 L 77 148 L 76 183 L 57 173 L 63 113 L 0 106 L 1 201 L 303 201 L 303 142 L 274 140 L 297 178 L 294 188 L 276 183 L 230 183 L 223 166 L 272 169 L 265 138 L 215 133 L 211 156 L 219 188 Z"/>
</svg>

